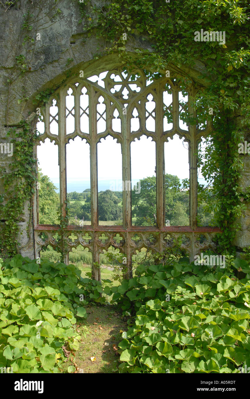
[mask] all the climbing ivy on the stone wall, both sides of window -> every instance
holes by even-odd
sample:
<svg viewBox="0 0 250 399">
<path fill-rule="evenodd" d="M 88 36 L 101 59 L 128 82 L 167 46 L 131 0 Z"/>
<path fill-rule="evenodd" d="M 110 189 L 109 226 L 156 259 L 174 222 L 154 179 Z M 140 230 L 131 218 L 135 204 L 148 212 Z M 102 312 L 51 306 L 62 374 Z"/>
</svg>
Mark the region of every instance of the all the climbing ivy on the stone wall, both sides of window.
<svg viewBox="0 0 250 399">
<path fill-rule="evenodd" d="M 213 135 L 207 142 L 202 175 L 204 178 L 214 178 L 211 205 L 214 207 L 216 223 L 222 228 L 222 235 L 218 237 L 219 246 L 223 250 L 232 249 L 234 234 L 239 229 L 236 217 L 242 214 L 250 200 L 250 191 L 242 192 L 239 186 L 243 157 L 248 155 L 240 155 L 237 151 L 238 142 L 244 141 L 250 128 L 250 38 L 246 28 L 249 24 L 248 0 L 75 2 L 81 12 L 79 23 L 84 24 L 86 36 L 95 34 L 97 39 L 105 40 L 104 47 L 97 49 L 99 54 L 95 54 L 94 58 L 105 53 L 116 53 L 128 71 L 139 67 L 147 75 L 155 77 L 171 69 L 171 65 L 176 66 L 185 72 L 185 77 L 179 76 L 183 85 L 185 79 L 186 83 L 192 80 L 190 68 L 200 70 L 197 79 L 203 87 L 193 99 L 196 117 L 187 114 L 186 122 L 204 123 L 211 118 L 208 109 L 213 109 Z M 56 15 L 54 13 L 60 14 L 58 3 L 56 1 L 51 7 L 53 18 Z M 34 50 L 32 43 L 37 28 L 32 6 L 33 3 L 30 3 L 24 15 L 16 47 L 16 63 L 8 78 L 9 89 L 19 75 L 26 77 L 30 73 L 29 59 Z M 39 7 L 42 7 L 42 3 Z M 194 32 L 201 29 L 225 32 L 225 43 L 194 41 Z M 102 43 L 101 40 L 99 42 Z M 131 55 L 127 51 L 129 48 L 138 56 Z M 68 59 L 67 65 L 71 61 Z M 48 101 L 50 93 L 50 90 L 44 91 L 36 96 L 36 100 L 42 105 Z M 28 101 L 25 83 L 19 101 Z M 7 120 L 8 108 L 9 97 Z M 239 122 L 236 123 L 237 119 Z M 35 180 L 35 135 L 30 123 L 22 121 L 20 128 L 10 129 L 10 134 L 15 140 L 15 153 L 10 173 L 4 174 L 3 181 L 4 188 L 11 192 L 11 196 L 7 200 L 6 192 L 0 198 L 7 201 L 3 202 L 3 214 L 6 215 L 3 218 L 7 219 L 7 223 L 0 234 L 0 249 L 4 249 L 7 255 L 18 251 L 18 221 L 24 202 L 30 199 Z M 18 137 L 22 141 L 16 141 Z"/>
</svg>

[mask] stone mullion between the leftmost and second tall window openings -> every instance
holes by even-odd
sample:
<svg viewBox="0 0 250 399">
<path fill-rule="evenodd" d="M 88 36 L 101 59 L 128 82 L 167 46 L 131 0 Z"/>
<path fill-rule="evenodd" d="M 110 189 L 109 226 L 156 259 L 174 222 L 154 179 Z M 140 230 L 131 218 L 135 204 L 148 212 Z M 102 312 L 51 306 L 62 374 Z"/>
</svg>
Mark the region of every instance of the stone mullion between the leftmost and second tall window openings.
<svg viewBox="0 0 250 399">
<path fill-rule="evenodd" d="M 60 204 L 61 204 L 61 224 L 66 218 L 66 200 L 67 200 L 67 184 L 66 184 L 66 100 L 63 89 L 60 90 L 60 103 L 58 105 L 58 159 L 60 171 Z M 64 233 L 62 235 L 63 262 L 68 265 L 69 254 L 65 253 Z"/>
</svg>

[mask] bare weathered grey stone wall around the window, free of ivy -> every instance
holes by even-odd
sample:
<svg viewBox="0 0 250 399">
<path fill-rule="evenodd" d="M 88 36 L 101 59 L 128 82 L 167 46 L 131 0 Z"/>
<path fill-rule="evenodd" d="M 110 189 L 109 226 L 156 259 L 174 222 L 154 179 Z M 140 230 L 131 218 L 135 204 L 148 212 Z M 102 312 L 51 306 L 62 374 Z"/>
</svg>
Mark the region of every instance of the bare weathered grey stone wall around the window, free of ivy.
<svg viewBox="0 0 250 399">
<path fill-rule="evenodd" d="M 38 2 L 39 3 L 39 2 Z M 93 1 L 95 4 L 100 2 Z M 6 12 L 0 10 L 0 139 L 4 140 L 10 126 L 17 126 L 21 120 L 36 115 L 36 107 L 39 101 L 36 96 L 49 89 L 51 92 L 60 87 L 62 82 L 79 75 L 79 70 L 84 70 L 85 75 L 98 75 L 104 69 L 115 69 L 121 66 L 121 60 L 117 54 L 107 55 L 105 52 L 105 40 L 97 40 L 95 34 L 88 37 L 88 23 L 79 24 L 81 19 L 79 4 L 77 1 L 62 0 L 58 7 L 60 13 L 56 13 L 54 1 L 47 0 L 41 8 L 29 0 L 20 1 L 20 10 L 10 8 Z M 57 6 L 56 6 L 57 7 Z M 32 27 L 28 34 L 34 39 L 34 43 L 26 43 L 22 46 L 25 32 L 22 29 L 27 10 L 34 15 L 28 24 Z M 90 11 L 89 11 L 90 12 Z M 94 15 L 93 15 L 94 18 Z M 32 22 L 34 21 L 34 22 Z M 36 40 L 40 33 L 41 40 Z M 138 41 L 153 51 L 149 41 Z M 146 43 L 146 44 L 145 44 Z M 127 43 L 127 51 L 138 55 L 133 49 L 132 43 Z M 102 55 L 96 59 L 96 54 Z M 17 64 L 17 58 L 24 55 L 24 59 Z M 25 65 L 27 69 L 22 73 L 19 65 Z M 204 65 L 197 60 L 196 68 L 183 67 L 179 69 L 174 65 L 169 68 L 177 72 L 188 72 L 194 82 L 205 85 L 198 79 L 204 73 Z M 21 67 L 22 69 L 22 67 Z M 12 82 L 8 82 L 11 80 Z M 27 101 L 19 101 L 23 98 Z M 7 168 L 11 162 L 7 156 L 0 154 L 0 168 Z M 242 176 L 242 187 L 250 184 L 250 157 L 246 156 L 245 171 Z M 0 180 L 1 193 L 1 180 Z M 34 231 L 32 229 L 32 209 L 26 202 L 24 215 L 20 221 L 20 253 L 24 256 L 34 257 Z M 0 221 L 0 228 L 3 222 Z M 246 211 L 246 217 L 240 219 L 242 231 L 237 233 L 236 245 L 245 247 L 250 245 L 250 212 Z M 27 234 L 27 230 L 29 233 Z"/>
</svg>

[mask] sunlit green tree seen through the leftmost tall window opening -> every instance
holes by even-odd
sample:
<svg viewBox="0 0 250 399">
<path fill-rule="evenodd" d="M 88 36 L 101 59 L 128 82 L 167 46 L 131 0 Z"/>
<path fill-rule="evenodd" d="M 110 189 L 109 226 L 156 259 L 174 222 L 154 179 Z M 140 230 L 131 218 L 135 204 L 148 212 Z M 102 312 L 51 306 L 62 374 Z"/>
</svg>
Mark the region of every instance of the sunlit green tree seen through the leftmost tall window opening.
<svg viewBox="0 0 250 399">
<path fill-rule="evenodd" d="M 60 224 L 60 197 L 56 193 L 56 186 L 47 175 L 38 170 L 39 188 L 39 223 Z"/>
</svg>

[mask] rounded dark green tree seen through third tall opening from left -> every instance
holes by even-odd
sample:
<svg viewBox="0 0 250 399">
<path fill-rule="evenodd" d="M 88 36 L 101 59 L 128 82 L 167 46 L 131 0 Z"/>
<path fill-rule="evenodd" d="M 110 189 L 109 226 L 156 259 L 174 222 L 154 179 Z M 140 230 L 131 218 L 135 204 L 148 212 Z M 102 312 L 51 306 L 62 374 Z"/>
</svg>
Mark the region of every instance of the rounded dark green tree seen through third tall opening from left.
<svg viewBox="0 0 250 399">
<path fill-rule="evenodd" d="M 99 219 L 103 221 L 119 220 L 122 218 L 120 199 L 111 191 L 100 192 L 98 196 Z"/>
</svg>

